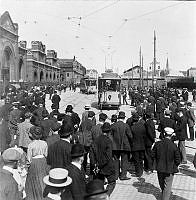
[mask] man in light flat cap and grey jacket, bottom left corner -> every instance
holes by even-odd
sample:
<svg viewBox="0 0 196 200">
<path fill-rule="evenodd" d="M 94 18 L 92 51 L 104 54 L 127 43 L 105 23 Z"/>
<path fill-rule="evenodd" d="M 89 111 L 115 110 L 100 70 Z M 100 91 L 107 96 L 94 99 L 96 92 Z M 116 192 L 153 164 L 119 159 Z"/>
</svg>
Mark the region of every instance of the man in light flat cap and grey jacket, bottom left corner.
<svg viewBox="0 0 196 200">
<path fill-rule="evenodd" d="M 14 169 L 17 168 L 21 154 L 14 148 L 6 149 L 3 154 L 4 166 L 0 169 L 0 199 L 19 200 L 22 194 L 19 193 L 18 185 L 13 178 Z"/>
</svg>

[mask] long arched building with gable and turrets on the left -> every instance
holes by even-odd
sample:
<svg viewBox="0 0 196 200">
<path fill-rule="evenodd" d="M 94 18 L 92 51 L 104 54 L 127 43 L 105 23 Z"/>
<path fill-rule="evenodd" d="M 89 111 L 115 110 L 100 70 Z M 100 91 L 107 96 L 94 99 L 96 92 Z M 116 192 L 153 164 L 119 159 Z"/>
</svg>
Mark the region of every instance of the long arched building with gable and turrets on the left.
<svg viewBox="0 0 196 200">
<path fill-rule="evenodd" d="M 18 24 L 6 11 L 0 16 L 0 93 L 11 83 L 59 82 L 57 53 L 40 41 L 19 41 Z"/>
</svg>

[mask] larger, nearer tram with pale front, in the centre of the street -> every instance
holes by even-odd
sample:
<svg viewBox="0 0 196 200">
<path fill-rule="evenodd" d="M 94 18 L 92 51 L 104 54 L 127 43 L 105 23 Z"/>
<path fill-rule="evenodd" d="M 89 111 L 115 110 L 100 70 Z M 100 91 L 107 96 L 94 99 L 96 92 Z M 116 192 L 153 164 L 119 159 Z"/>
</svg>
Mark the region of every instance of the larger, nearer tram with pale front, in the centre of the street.
<svg viewBox="0 0 196 200">
<path fill-rule="evenodd" d="M 107 70 L 98 78 L 98 106 L 100 110 L 118 110 L 121 105 L 121 78 Z"/>
</svg>

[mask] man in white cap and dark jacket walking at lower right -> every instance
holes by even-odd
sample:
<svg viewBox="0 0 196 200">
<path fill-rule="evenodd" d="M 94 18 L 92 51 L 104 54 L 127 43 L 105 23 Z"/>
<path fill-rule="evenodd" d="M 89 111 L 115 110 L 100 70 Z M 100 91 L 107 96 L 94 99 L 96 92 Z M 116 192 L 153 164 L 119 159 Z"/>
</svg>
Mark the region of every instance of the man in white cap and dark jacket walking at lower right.
<svg viewBox="0 0 196 200">
<path fill-rule="evenodd" d="M 180 164 L 180 153 L 171 140 L 174 129 L 166 127 L 164 130 L 165 138 L 155 143 L 152 156 L 156 161 L 159 185 L 162 190 L 161 199 L 169 200 L 174 173 L 178 172 L 178 165 Z"/>
</svg>

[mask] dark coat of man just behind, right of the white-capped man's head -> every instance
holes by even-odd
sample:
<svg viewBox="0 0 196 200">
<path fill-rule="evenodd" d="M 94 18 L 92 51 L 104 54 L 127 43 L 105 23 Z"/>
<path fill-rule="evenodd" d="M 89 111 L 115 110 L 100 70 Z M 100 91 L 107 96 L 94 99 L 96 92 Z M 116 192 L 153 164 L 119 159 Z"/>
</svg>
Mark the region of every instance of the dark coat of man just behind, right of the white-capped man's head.
<svg viewBox="0 0 196 200">
<path fill-rule="evenodd" d="M 187 136 L 187 118 L 185 116 L 177 118 L 176 137 L 180 141 L 184 141 L 188 138 L 188 136 Z"/>
</svg>

